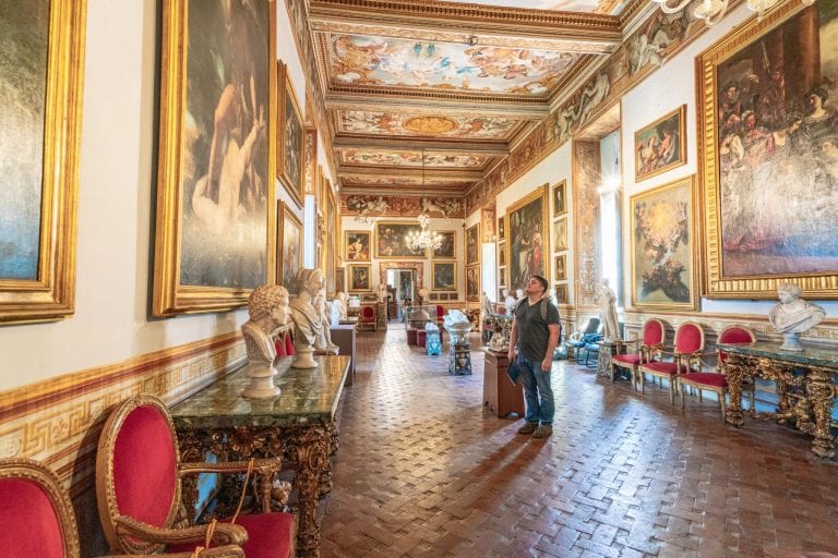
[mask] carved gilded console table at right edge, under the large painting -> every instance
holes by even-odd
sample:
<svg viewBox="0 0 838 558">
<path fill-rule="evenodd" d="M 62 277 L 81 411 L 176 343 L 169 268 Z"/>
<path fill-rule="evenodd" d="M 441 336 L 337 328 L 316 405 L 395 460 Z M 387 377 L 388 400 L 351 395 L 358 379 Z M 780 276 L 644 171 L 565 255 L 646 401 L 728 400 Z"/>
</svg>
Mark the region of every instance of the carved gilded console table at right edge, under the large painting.
<svg viewBox="0 0 838 558">
<path fill-rule="evenodd" d="M 812 452 L 835 457 L 835 437 L 829 433 L 833 401 L 838 392 L 838 351 L 805 348 L 801 352 L 780 351 L 779 343 L 718 343 L 728 356 L 727 375 L 730 404 L 727 421 L 742 425 L 742 380 L 759 376 L 777 384 L 779 404 L 773 415 L 779 422 L 795 422 L 812 434 Z M 799 388 L 804 397 L 792 403 L 789 390 Z M 814 421 L 813 421 L 814 418 Z"/>
</svg>

